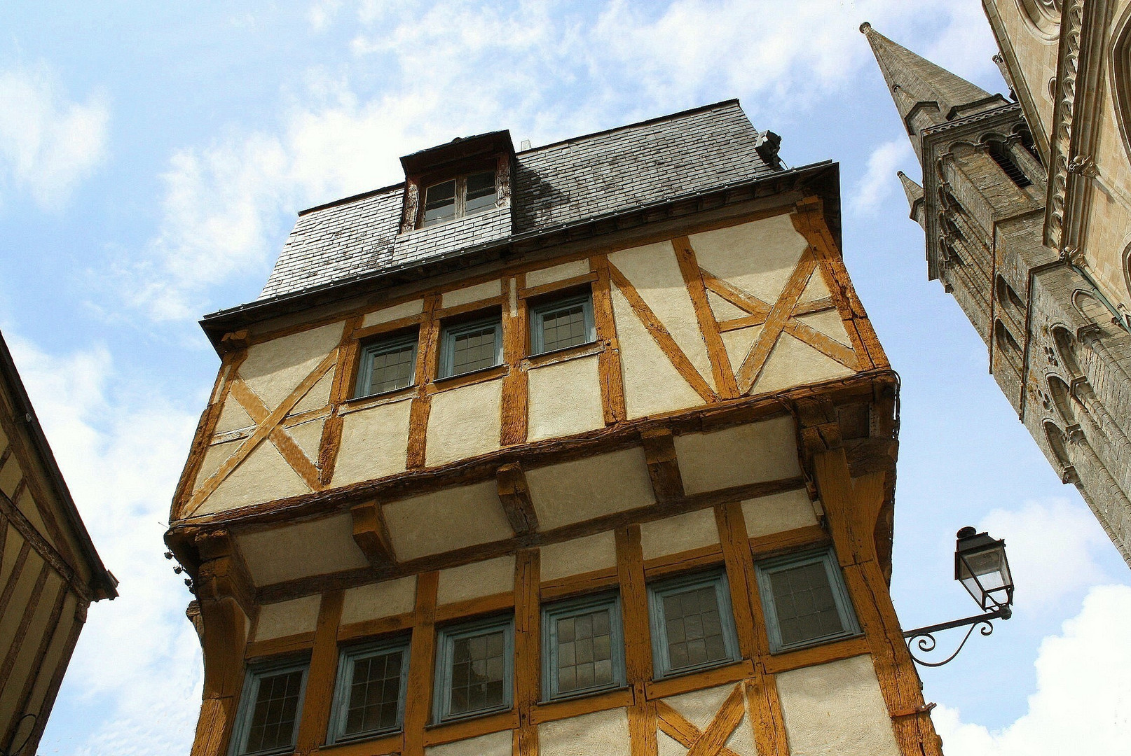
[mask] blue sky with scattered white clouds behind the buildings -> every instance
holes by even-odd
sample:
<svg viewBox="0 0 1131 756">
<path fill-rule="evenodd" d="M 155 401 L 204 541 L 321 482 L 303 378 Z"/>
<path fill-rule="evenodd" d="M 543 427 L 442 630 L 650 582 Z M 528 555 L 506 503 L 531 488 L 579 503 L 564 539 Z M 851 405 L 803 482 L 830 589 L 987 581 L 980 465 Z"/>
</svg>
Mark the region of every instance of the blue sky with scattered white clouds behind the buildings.
<svg viewBox="0 0 1131 756">
<path fill-rule="evenodd" d="M 841 164 L 845 259 L 903 377 L 892 593 L 973 614 L 953 533 L 1009 542 L 1017 611 L 924 670 L 951 756 L 1123 753 L 1131 573 L 926 280 L 918 166 L 864 37 L 1004 89 L 976 0 L 6 3 L 0 329 L 121 598 L 92 607 L 40 753 L 185 753 L 199 646 L 162 558 L 218 360 L 196 320 L 253 299 L 296 210 L 397 157 L 534 145 L 739 97 L 791 165 Z"/>
</svg>

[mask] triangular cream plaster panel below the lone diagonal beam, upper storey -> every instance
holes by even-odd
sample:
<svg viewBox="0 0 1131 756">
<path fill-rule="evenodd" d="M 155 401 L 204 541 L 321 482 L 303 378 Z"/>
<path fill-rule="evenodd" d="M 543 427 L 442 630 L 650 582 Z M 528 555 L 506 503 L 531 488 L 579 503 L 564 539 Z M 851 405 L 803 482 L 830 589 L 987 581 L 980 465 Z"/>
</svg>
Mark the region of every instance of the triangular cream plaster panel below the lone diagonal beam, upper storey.
<svg viewBox="0 0 1131 756">
<path fill-rule="evenodd" d="M 672 366 L 615 286 L 612 299 L 628 416 L 644 417 L 702 405 L 702 398 Z"/>
</svg>

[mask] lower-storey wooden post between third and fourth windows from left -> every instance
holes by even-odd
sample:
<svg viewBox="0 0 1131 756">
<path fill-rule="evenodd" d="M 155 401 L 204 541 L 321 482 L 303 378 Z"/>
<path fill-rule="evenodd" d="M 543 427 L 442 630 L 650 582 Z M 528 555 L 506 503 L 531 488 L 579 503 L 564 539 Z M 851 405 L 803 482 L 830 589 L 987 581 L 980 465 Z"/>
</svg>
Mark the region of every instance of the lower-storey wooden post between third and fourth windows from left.
<svg viewBox="0 0 1131 756">
<path fill-rule="evenodd" d="M 513 735 L 516 756 L 538 756 L 538 728 L 530 710 L 538 702 L 542 672 L 542 614 L 538 586 L 538 549 L 523 549 L 515 559 L 515 702 L 518 729 Z"/>
</svg>

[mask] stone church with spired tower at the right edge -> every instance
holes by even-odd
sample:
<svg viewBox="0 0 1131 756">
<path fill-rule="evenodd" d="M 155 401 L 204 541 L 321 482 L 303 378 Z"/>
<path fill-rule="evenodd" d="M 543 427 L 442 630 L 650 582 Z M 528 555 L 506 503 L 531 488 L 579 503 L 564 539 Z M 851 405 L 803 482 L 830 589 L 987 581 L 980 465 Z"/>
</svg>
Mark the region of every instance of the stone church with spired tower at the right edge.
<svg viewBox="0 0 1131 756">
<path fill-rule="evenodd" d="M 1120 142 L 1100 165 L 1083 142 L 1102 134 L 1073 127 L 1074 112 L 1099 107 L 1088 128 L 1121 139 L 1102 92 L 1076 98 L 1082 3 L 1065 3 L 1077 36 L 1059 53 L 1061 2 L 985 5 L 1012 99 L 861 26 L 923 168 L 922 186 L 899 179 L 926 234 L 927 276 L 958 301 L 1018 418 L 1131 563 L 1128 153 Z M 1088 7 L 1105 5 L 1117 3 Z M 1039 35 L 1022 23 L 1033 18 Z M 1107 63 L 1089 64 L 1098 79 L 1088 86 L 1110 86 Z"/>
</svg>

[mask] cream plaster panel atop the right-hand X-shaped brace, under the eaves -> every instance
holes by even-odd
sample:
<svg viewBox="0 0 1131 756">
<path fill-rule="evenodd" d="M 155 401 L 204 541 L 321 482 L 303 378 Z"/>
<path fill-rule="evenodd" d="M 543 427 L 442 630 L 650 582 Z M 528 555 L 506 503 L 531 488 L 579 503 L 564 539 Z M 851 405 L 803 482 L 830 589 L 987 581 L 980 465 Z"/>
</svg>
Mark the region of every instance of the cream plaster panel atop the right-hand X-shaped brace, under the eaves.
<svg viewBox="0 0 1131 756">
<path fill-rule="evenodd" d="M 788 212 L 692 234 L 699 267 L 774 304 L 809 246 Z"/>
</svg>

